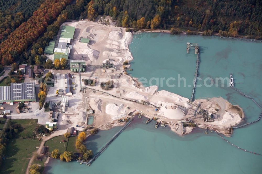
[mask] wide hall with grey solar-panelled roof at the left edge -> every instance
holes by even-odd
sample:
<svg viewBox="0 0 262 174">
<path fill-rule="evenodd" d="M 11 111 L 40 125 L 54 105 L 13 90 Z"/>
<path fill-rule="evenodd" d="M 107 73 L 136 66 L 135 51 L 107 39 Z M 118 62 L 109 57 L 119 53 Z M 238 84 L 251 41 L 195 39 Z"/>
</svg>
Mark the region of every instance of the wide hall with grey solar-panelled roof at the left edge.
<svg viewBox="0 0 262 174">
<path fill-rule="evenodd" d="M 36 101 L 35 83 L 11 83 L 0 86 L 0 103 Z"/>
</svg>

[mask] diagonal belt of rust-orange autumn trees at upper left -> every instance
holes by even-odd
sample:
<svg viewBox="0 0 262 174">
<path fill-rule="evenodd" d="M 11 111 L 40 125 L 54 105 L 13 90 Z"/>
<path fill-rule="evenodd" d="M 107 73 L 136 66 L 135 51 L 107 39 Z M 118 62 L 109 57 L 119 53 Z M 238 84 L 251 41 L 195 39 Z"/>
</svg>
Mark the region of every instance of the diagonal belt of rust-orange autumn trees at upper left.
<svg viewBox="0 0 262 174">
<path fill-rule="evenodd" d="M 9 65 L 57 18 L 72 0 L 46 0 L 28 21 L 21 24 L 0 45 L 2 65 Z"/>
</svg>

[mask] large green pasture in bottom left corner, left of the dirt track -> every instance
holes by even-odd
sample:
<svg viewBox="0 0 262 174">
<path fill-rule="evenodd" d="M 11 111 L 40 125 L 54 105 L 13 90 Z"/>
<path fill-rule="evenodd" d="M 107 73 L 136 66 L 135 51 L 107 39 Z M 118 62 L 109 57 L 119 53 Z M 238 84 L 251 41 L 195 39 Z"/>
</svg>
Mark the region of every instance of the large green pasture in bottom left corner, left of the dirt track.
<svg viewBox="0 0 262 174">
<path fill-rule="evenodd" d="M 23 174 L 26 172 L 27 165 L 32 153 L 37 150 L 40 141 L 11 139 L 7 145 L 6 156 L 1 166 L 2 174 Z"/>
</svg>

